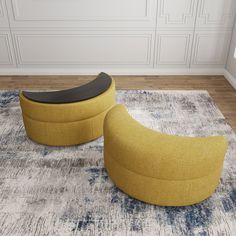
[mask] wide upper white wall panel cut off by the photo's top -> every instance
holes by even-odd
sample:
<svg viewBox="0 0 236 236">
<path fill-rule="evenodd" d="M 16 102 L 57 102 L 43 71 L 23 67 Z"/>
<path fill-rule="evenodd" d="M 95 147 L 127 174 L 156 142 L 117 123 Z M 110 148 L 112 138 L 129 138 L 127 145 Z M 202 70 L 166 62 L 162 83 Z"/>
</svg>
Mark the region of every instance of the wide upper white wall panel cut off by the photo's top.
<svg viewBox="0 0 236 236">
<path fill-rule="evenodd" d="M 21 27 L 155 27 L 156 0 L 9 0 Z"/>
</svg>

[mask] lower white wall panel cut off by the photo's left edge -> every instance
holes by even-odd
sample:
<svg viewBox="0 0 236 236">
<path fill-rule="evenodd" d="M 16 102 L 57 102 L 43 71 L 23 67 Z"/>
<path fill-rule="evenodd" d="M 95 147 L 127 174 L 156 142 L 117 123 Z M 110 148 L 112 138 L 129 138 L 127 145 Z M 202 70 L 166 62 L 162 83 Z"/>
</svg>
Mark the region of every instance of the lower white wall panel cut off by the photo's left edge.
<svg viewBox="0 0 236 236">
<path fill-rule="evenodd" d="M 12 40 L 9 31 L 0 30 L 0 67 L 14 66 Z"/>
</svg>

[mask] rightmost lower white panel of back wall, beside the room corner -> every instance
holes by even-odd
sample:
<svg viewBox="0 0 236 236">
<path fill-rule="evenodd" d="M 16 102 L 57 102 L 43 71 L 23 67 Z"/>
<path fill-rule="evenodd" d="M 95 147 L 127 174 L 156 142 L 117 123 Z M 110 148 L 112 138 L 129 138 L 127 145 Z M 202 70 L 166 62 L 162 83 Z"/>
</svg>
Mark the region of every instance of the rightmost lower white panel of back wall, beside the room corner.
<svg viewBox="0 0 236 236">
<path fill-rule="evenodd" d="M 194 39 L 192 66 L 224 66 L 230 39 L 231 31 L 197 31 Z"/>
</svg>

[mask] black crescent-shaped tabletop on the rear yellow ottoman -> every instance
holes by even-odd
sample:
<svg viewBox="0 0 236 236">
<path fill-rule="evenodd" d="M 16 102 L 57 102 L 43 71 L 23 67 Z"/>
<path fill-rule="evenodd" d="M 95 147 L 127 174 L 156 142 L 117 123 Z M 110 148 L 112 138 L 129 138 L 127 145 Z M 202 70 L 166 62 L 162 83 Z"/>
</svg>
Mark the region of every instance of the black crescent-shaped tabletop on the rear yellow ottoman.
<svg viewBox="0 0 236 236">
<path fill-rule="evenodd" d="M 53 92 L 26 92 L 23 95 L 34 102 L 49 104 L 64 104 L 80 102 L 94 98 L 104 93 L 111 85 L 112 78 L 106 73 L 100 73 L 97 78 L 80 87 Z"/>
</svg>

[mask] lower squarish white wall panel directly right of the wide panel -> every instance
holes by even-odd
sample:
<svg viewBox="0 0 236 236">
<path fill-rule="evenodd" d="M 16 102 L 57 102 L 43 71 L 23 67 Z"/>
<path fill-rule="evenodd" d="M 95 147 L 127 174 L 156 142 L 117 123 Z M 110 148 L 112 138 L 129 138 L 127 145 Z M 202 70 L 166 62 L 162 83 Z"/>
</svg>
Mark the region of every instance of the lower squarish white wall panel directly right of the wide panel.
<svg viewBox="0 0 236 236">
<path fill-rule="evenodd" d="M 157 67 L 189 67 L 192 31 L 157 32 Z"/>
</svg>

